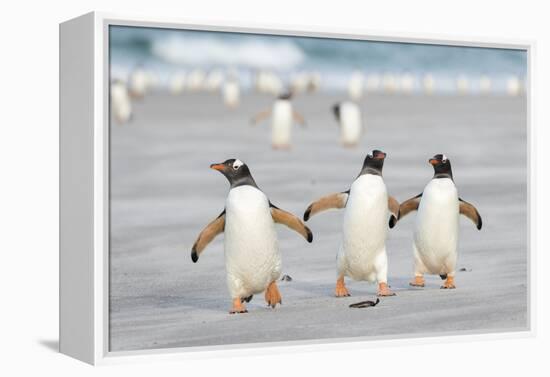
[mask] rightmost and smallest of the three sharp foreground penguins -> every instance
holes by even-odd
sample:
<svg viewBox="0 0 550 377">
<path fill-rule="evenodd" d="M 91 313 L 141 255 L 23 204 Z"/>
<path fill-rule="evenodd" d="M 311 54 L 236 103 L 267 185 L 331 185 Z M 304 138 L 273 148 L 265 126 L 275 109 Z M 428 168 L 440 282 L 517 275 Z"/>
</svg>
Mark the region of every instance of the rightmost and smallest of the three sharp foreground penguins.
<svg viewBox="0 0 550 377">
<path fill-rule="evenodd" d="M 445 282 L 441 288 L 455 288 L 454 275 L 458 247 L 458 217 L 464 215 L 481 229 L 481 216 L 462 200 L 453 181 L 451 161 L 444 154 L 430 158 L 434 176 L 424 191 L 399 207 L 399 218 L 418 210 L 413 253 L 415 287 L 424 286 L 424 274 L 437 274 Z"/>
</svg>

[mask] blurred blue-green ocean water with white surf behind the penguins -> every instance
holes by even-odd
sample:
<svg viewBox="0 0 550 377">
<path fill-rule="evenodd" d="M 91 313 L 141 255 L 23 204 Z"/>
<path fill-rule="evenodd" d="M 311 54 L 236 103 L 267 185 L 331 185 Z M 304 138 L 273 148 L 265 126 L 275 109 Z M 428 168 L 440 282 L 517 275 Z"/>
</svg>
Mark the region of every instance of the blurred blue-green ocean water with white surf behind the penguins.
<svg viewBox="0 0 550 377">
<path fill-rule="evenodd" d="M 114 78 L 125 79 L 144 67 L 162 85 L 176 72 L 216 69 L 234 72 L 245 88 L 262 70 L 285 82 L 297 73 L 315 72 L 323 89 L 341 90 L 359 71 L 379 81 L 406 77 L 413 90 L 426 75 L 439 91 L 456 90 L 459 80 L 468 90 L 480 90 L 484 77 L 499 92 L 510 78 L 521 81 L 527 73 L 523 50 L 128 26 L 111 26 L 110 59 Z"/>
</svg>

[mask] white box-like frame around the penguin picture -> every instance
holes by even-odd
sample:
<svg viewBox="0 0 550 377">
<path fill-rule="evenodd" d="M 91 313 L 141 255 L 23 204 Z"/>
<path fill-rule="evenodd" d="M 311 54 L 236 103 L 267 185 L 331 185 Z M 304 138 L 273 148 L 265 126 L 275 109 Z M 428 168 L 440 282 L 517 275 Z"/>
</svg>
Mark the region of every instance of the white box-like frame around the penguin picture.
<svg viewBox="0 0 550 377">
<path fill-rule="evenodd" d="M 450 36 L 428 36 L 356 30 L 292 30 L 279 25 L 219 23 L 195 24 L 187 20 L 143 18 L 108 13 L 88 13 L 60 25 L 60 351 L 90 364 L 143 359 L 210 357 L 226 354 L 256 354 L 278 348 L 336 349 L 377 347 L 388 343 L 448 342 L 461 339 L 509 338 L 534 335 L 533 257 L 528 242 L 529 329 L 514 333 L 471 334 L 420 339 L 353 338 L 331 341 L 293 341 L 232 346 L 207 346 L 109 352 L 108 326 L 108 190 L 109 190 L 109 100 L 108 28 L 110 25 L 164 27 L 189 30 L 251 32 L 259 34 L 316 36 L 392 42 L 414 42 L 456 46 L 500 47 L 527 52 L 528 171 L 531 171 L 532 41 L 494 40 Z M 532 211 L 531 175 L 527 185 L 528 210 Z M 528 219 L 532 217 L 528 216 Z M 528 238 L 533 224 L 528 221 Z M 368 340 L 368 341 L 367 341 Z M 281 346 L 286 348 L 281 349 Z M 246 350 L 246 351 L 245 351 Z"/>
</svg>

